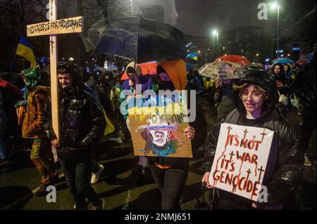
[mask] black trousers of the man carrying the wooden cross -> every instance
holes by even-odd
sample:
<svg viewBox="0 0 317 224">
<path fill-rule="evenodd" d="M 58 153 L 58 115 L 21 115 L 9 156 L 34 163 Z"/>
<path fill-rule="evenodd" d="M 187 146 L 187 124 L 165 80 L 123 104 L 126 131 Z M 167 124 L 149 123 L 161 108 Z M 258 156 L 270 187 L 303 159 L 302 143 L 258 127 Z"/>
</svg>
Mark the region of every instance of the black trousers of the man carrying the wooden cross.
<svg viewBox="0 0 317 224">
<path fill-rule="evenodd" d="M 67 164 L 61 159 L 59 161 L 61 169 L 65 174 L 70 195 L 72 195 L 77 209 L 85 208 L 85 198 L 89 199 L 94 206 L 98 206 L 100 199 L 90 184 L 90 179 L 92 178 L 92 160 L 87 159 L 87 161 L 81 163 L 68 162 Z"/>
</svg>

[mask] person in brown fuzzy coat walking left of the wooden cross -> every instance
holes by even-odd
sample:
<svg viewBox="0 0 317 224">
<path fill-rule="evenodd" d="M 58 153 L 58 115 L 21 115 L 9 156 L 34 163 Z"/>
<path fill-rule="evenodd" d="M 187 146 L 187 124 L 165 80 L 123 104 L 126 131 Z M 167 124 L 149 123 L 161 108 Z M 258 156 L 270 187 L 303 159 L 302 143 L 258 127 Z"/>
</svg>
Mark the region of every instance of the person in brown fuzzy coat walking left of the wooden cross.
<svg viewBox="0 0 317 224">
<path fill-rule="evenodd" d="M 29 96 L 27 111 L 23 119 L 23 138 L 32 138 L 31 161 L 42 176 L 41 185 L 34 193 L 36 196 L 46 195 L 46 187 L 58 181 L 58 173 L 51 151 L 51 143 L 46 136 L 45 124 L 51 120 L 51 89 L 42 86 L 41 77 L 35 68 L 23 70 L 23 79 Z"/>
</svg>

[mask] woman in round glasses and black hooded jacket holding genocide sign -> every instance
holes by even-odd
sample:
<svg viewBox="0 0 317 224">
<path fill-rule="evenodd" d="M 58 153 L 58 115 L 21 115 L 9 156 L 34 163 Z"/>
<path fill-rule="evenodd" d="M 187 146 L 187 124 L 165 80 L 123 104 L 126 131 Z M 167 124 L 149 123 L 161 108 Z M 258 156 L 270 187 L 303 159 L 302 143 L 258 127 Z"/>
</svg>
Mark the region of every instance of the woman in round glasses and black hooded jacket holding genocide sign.
<svg viewBox="0 0 317 224">
<path fill-rule="evenodd" d="M 273 74 L 263 70 L 249 70 L 233 88 L 239 93 L 237 108 L 213 124 L 206 138 L 207 166 L 202 183 L 207 188 L 213 188 L 209 176 L 222 123 L 271 129 L 275 133 L 271 149 L 267 149 L 270 155 L 263 178 L 263 185 L 268 190 L 267 202 L 253 202 L 231 192 L 214 190 L 218 192 L 219 209 L 282 209 L 283 202 L 292 196 L 302 178 L 304 157 L 291 124 L 275 108 L 278 91 Z"/>
</svg>

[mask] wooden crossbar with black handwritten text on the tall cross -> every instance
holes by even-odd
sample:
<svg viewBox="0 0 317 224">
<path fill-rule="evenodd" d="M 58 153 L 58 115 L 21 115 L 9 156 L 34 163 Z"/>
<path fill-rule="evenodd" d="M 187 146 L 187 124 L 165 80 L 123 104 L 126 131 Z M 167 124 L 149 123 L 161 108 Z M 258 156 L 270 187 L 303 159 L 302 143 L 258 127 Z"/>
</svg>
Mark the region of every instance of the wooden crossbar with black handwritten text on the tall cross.
<svg viewBox="0 0 317 224">
<path fill-rule="evenodd" d="M 82 32 L 82 16 L 27 25 L 27 37 Z"/>
</svg>

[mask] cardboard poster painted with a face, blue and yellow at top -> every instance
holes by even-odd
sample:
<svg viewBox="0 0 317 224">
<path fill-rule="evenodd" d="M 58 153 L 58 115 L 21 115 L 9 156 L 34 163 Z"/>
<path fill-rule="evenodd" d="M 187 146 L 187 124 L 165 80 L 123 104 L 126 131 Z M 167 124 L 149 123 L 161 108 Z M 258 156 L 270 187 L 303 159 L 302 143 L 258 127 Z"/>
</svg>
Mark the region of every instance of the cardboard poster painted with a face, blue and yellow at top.
<svg viewBox="0 0 317 224">
<path fill-rule="evenodd" d="M 131 136 L 135 155 L 154 157 L 192 158 L 191 141 L 184 130 L 189 126 L 188 117 L 169 108 L 180 107 L 170 103 L 165 107 L 152 107 L 151 114 L 129 114 Z"/>
</svg>

